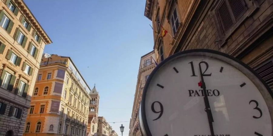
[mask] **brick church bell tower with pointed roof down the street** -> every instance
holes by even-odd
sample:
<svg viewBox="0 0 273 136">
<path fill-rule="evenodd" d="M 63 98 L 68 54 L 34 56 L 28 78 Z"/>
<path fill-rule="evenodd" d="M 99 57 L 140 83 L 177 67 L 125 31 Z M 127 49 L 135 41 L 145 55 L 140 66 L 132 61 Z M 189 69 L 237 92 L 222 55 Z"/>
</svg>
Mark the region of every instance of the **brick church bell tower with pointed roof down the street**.
<svg viewBox="0 0 273 136">
<path fill-rule="evenodd" d="M 93 136 L 98 129 L 98 115 L 99 115 L 99 93 L 96 90 L 96 86 L 89 92 L 89 115 L 88 115 L 88 127 L 87 136 Z"/>
</svg>

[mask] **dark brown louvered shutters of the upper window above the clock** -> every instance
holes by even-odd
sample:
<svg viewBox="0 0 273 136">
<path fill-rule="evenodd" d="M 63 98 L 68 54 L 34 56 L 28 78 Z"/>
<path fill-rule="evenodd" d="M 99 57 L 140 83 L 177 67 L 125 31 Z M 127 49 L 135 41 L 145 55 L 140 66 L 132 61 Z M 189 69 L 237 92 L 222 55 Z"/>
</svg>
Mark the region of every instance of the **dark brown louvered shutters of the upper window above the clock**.
<svg viewBox="0 0 273 136">
<path fill-rule="evenodd" d="M 224 31 L 229 30 L 234 25 L 234 22 L 232 21 L 226 1 L 224 1 L 218 8 L 218 14 Z"/>
</svg>

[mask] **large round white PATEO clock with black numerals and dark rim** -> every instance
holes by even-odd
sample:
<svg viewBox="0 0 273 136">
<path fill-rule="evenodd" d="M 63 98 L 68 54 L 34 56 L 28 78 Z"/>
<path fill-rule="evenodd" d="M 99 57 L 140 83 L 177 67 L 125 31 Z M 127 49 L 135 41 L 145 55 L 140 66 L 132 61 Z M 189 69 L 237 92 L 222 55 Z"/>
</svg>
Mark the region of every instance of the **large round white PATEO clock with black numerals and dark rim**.
<svg viewBox="0 0 273 136">
<path fill-rule="evenodd" d="M 191 50 L 150 75 L 140 128 L 148 136 L 210 136 L 211 128 L 215 136 L 271 136 L 272 104 L 268 87 L 244 64 L 223 53 Z"/>
</svg>

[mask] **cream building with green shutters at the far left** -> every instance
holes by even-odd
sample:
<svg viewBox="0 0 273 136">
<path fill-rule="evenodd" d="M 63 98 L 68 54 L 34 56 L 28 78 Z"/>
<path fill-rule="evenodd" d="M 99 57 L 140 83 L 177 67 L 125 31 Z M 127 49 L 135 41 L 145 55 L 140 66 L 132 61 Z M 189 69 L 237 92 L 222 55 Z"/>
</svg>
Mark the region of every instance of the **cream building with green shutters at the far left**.
<svg viewBox="0 0 273 136">
<path fill-rule="evenodd" d="M 0 1 L 0 136 L 21 136 L 46 44 L 22 0 Z"/>
</svg>

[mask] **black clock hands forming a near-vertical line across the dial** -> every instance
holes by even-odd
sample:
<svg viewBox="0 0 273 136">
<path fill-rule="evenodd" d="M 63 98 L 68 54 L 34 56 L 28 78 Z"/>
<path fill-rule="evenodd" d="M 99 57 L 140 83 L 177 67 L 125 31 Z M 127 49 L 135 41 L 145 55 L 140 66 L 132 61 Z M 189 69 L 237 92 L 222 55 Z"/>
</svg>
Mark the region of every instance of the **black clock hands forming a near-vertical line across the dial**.
<svg viewBox="0 0 273 136">
<path fill-rule="evenodd" d="M 213 125 L 212 122 L 213 121 L 213 117 L 212 117 L 212 113 L 211 113 L 211 106 L 207 97 L 207 91 L 206 91 L 206 84 L 204 82 L 204 78 L 203 78 L 203 73 L 202 73 L 202 68 L 201 68 L 201 63 L 199 63 L 199 70 L 200 70 L 200 76 L 201 76 L 201 88 L 203 88 L 203 92 L 204 92 L 204 102 L 205 102 L 205 111 L 207 112 L 207 118 L 209 121 L 209 125 L 210 125 L 210 130 L 211 130 L 211 135 L 214 136 L 214 131 L 213 131 Z"/>
</svg>

